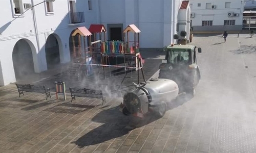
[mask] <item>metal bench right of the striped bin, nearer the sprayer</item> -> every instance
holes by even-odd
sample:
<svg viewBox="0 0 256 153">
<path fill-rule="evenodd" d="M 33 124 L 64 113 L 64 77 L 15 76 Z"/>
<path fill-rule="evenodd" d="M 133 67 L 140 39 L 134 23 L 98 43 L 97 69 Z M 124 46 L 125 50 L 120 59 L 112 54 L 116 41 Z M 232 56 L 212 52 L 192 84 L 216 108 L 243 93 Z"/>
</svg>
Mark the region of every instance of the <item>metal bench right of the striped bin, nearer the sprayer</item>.
<svg viewBox="0 0 256 153">
<path fill-rule="evenodd" d="M 78 88 L 69 88 L 71 93 L 71 102 L 73 99 L 75 100 L 76 97 L 91 97 L 91 98 L 98 98 L 102 100 L 102 105 L 104 101 L 106 101 L 105 96 L 103 96 L 101 90 L 92 90 L 92 89 L 78 89 Z"/>
</svg>

